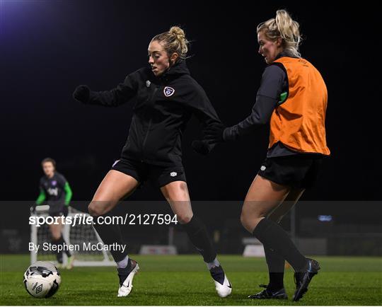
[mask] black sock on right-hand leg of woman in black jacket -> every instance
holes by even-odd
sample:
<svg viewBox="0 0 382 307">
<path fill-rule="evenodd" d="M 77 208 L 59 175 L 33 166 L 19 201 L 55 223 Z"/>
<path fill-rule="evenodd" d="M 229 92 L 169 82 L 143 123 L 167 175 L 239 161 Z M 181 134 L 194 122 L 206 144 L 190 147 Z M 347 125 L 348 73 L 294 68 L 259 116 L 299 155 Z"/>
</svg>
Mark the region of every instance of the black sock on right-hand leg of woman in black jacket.
<svg viewBox="0 0 382 307">
<path fill-rule="evenodd" d="M 188 238 L 195 248 L 202 254 L 204 262 L 212 262 L 216 258 L 216 251 L 212 245 L 211 238 L 207 233 L 207 228 L 203 222 L 197 217 L 192 216 L 191 221 L 183 224 Z"/>
</svg>

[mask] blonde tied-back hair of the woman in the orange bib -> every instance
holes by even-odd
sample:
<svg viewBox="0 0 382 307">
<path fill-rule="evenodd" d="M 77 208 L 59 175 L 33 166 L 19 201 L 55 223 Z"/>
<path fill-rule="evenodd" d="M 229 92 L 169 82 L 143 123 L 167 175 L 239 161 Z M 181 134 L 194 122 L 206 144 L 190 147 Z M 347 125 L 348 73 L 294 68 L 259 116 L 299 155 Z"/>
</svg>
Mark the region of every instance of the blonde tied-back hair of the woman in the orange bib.
<svg viewBox="0 0 382 307">
<path fill-rule="evenodd" d="M 263 32 L 267 39 L 275 41 L 282 37 L 282 47 L 287 54 L 301 57 L 299 45 L 301 44 L 300 25 L 294 21 L 285 10 L 276 12 L 276 18 L 271 18 L 257 25 L 257 33 Z"/>
</svg>

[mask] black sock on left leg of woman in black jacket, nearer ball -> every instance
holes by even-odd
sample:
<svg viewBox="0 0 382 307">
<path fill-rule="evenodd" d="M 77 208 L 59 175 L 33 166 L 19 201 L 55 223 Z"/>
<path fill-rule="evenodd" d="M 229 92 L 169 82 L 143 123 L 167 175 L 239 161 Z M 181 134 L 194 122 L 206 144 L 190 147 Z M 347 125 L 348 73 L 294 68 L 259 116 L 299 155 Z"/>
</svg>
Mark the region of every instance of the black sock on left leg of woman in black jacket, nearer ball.
<svg viewBox="0 0 382 307">
<path fill-rule="evenodd" d="M 108 214 L 105 214 L 103 216 L 107 216 Z M 125 243 L 122 240 L 122 233 L 119 225 L 107 225 L 107 224 L 98 224 L 97 219 L 95 219 L 95 223 L 93 224 L 94 229 L 96 229 L 98 235 L 102 239 L 103 243 L 106 245 L 112 245 L 113 243 L 117 243 L 119 245 L 125 245 Z M 110 253 L 112 254 L 112 257 L 114 258 L 115 262 L 119 262 L 125 259 L 127 256 L 127 248 L 125 248 L 125 251 L 122 252 L 122 250 L 110 250 Z"/>
</svg>

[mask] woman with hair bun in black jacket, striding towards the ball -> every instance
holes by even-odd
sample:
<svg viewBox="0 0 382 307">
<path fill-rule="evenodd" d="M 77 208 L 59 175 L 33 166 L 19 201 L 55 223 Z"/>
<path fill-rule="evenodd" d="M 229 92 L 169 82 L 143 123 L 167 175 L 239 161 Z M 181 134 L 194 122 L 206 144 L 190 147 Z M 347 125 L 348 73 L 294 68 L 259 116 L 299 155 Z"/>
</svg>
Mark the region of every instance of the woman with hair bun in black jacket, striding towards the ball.
<svg viewBox="0 0 382 307">
<path fill-rule="evenodd" d="M 100 183 L 88 209 L 92 216 L 103 216 L 141 183 L 153 181 L 202 254 L 217 293 L 226 297 L 231 294 L 231 284 L 216 259 L 206 227 L 192 213 L 182 164 L 181 139 L 190 117 L 196 115 L 204 129 L 221 124 L 206 93 L 187 69 L 187 44 L 183 30 L 172 27 L 151 40 L 150 69 L 142 68 L 129 74 L 124 83 L 111 91 L 95 92 L 87 86 L 79 86 L 74 91 L 76 100 L 91 105 L 117 106 L 135 100 L 129 137 L 121 158 Z M 212 149 L 212 145 L 202 141 L 194 141 L 192 147 L 201 154 Z M 105 244 L 122 244 L 119 226 L 95 224 L 95 228 Z M 139 266 L 128 257 L 127 251 L 112 251 L 112 256 L 120 277 L 118 296 L 127 296 Z"/>
</svg>

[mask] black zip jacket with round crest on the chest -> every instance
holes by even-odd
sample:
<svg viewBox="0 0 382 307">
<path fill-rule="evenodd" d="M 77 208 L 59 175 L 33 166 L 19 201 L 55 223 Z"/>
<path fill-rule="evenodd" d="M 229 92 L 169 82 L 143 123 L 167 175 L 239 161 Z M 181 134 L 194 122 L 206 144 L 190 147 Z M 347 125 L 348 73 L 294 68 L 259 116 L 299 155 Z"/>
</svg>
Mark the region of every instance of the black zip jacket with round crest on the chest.
<svg viewBox="0 0 382 307">
<path fill-rule="evenodd" d="M 115 107 L 135 99 L 129 137 L 121 158 L 157 166 L 182 165 L 182 134 L 194 114 L 203 129 L 221 124 L 202 86 L 185 61 L 160 77 L 148 67 L 129 74 L 111 91 L 90 92 L 88 103 Z M 209 144 L 209 150 L 213 145 Z"/>
</svg>

